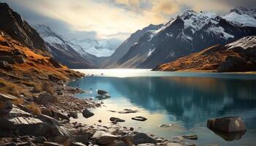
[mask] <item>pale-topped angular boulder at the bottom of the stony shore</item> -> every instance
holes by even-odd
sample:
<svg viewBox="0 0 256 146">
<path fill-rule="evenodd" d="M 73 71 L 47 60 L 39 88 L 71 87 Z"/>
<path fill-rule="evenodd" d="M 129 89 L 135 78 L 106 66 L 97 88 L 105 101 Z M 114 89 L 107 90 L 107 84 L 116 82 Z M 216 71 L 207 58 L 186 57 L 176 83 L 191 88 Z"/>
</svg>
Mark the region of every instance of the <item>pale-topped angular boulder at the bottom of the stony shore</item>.
<svg viewBox="0 0 256 146">
<path fill-rule="evenodd" d="M 105 131 L 96 131 L 91 138 L 96 139 L 100 145 L 109 145 L 119 137 L 113 134 L 108 134 Z"/>
</svg>

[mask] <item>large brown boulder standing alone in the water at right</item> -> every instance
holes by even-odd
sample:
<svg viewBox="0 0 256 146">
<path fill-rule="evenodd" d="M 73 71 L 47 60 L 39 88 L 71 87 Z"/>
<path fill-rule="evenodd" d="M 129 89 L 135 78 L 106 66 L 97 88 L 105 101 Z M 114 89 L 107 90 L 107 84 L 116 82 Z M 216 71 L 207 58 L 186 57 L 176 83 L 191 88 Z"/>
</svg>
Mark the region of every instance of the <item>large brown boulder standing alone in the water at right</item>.
<svg viewBox="0 0 256 146">
<path fill-rule="evenodd" d="M 244 121 L 239 117 L 214 118 L 207 121 L 207 127 L 213 131 L 238 132 L 246 131 Z"/>
</svg>

